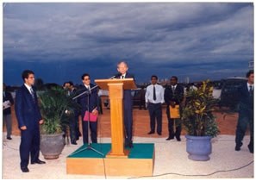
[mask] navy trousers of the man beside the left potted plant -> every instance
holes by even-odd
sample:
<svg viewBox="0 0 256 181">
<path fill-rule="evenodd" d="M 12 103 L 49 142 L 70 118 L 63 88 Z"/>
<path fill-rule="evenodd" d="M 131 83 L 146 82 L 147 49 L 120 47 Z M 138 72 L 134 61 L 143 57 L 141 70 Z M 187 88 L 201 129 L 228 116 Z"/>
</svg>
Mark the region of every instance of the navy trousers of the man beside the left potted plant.
<svg viewBox="0 0 256 181">
<path fill-rule="evenodd" d="M 40 132 L 39 128 L 26 129 L 21 131 L 20 157 L 21 167 L 28 166 L 30 153 L 31 162 L 39 159 L 40 151 Z"/>
</svg>

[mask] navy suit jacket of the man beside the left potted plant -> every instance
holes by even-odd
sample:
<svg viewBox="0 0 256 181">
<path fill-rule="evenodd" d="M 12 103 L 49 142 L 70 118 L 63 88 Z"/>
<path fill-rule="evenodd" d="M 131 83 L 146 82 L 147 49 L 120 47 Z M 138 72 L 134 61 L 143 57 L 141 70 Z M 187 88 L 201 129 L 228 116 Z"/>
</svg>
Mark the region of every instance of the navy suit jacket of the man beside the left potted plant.
<svg viewBox="0 0 256 181">
<path fill-rule="evenodd" d="M 23 84 L 22 87 L 16 91 L 15 110 L 19 128 L 22 126 L 26 126 L 28 130 L 39 128 L 39 121 L 42 118 L 35 90 L 33 100 L 27 87 Z"/>
</svg>

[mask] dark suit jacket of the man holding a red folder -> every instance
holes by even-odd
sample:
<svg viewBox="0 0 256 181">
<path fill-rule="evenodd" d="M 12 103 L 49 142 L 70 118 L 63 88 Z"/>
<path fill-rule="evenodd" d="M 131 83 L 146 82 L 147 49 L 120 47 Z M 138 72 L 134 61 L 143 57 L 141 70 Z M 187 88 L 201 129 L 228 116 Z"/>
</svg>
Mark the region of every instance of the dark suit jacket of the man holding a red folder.
<svg viewBox="0 0 256 181">
<path fill-rule="evenodd" d="M 95 85 L 90 84 L 90 87 L 93 88 Z M 78 90 L 78 95 L 81 94 L 82 92 L 88 90 L 84 84 L 79 87 Z M 78 97 L 78 103 L 81 105 L 81 115 L 82 119 L 84 118 L 85 111 L 88 110 L 88 96 L 89 96 L 89 111 L 92 112 L 93 109 L 97 108 L 99 110 L 99 105 L 98 105 L 98 95 L 97 95 L 97 88 L 91 90 L 91 94 L 84 94 L 81 97 Z"/>
</svg>

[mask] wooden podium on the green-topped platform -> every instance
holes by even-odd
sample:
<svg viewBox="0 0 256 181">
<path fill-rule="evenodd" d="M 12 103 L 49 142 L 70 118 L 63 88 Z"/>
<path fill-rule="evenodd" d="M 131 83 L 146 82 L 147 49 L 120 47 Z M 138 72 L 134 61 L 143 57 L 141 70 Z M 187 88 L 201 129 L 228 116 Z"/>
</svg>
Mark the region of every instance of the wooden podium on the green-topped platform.
<svg viewBox="0 0 256 181">
<path fill-rule="evenodd" d="M 128 158 L 129 150 L 124 149 L 123 132 L 123 90 L 136 89 L 134 78 L 96 79 L 95 83 L 102 90 L 109 90 L 111 119 L 111 151 L 107 158 Z"/>
</svg>

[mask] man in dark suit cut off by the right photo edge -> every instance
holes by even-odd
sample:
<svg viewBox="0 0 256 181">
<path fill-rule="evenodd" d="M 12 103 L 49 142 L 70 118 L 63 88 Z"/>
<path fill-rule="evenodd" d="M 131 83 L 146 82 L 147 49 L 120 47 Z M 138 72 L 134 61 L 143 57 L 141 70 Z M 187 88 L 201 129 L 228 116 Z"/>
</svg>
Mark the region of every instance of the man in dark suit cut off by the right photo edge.
<svg viewBox="0 0 256 181">
<path fill-rule="evenodd" d="M 236 126 L 235 134 L 235 151 L 240 151 L 242 140 L 247 131 L 247 124 L 250 128 L 250 143 L 248 145 L 250 153 L 253 153 L 254 141 L 254 121 L 253 121 L 253 90 L 254 90 L 254 72 L 253 70 L 247 72 L 247 83 L 240 86 L 238 95 L 240 98 L 239 118 Z"/>
</svg>

